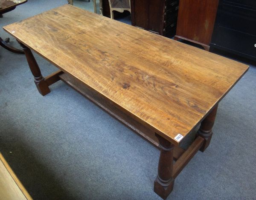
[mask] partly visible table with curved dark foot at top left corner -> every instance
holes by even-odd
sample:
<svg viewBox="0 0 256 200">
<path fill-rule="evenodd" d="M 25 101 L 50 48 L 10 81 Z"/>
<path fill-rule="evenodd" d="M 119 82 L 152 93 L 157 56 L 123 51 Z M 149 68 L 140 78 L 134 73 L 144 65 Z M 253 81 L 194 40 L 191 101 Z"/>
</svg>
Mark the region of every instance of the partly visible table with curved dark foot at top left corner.
<svg viewBox="0 0 256 200">
<path fill-rule="evenodd" d="M 20 0 L 20 1 L 1 0 L 0 1 L 0 16 L 2 16 L 6 12 L 14 10 L 16 8 L 16 6 L 26 3 L 26 2 L 27 2 L 27 0 Z M 9 51 L 12 51 L 14 53 L 17 53 L 17 54 L 24 54 L 24 51 L 12 47 L 11 45 L 8 44 L 8 42 L 10 42 L 10 38 L 2 39 L 0 37 L 0 45 L 3 48 L 5 48 Z"/>
</svg>

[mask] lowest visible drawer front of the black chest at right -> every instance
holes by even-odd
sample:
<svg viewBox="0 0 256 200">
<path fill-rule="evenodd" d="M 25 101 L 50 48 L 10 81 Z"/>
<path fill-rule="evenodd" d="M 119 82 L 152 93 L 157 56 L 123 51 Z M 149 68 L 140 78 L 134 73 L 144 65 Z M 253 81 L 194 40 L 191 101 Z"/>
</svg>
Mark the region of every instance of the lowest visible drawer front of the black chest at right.
<svg viewBox="0 0 256 200">
<path fill-rule="evenodd" d="M 213 43 L 256 58 L 256 36 L 218 27 Z"/>
</svg>

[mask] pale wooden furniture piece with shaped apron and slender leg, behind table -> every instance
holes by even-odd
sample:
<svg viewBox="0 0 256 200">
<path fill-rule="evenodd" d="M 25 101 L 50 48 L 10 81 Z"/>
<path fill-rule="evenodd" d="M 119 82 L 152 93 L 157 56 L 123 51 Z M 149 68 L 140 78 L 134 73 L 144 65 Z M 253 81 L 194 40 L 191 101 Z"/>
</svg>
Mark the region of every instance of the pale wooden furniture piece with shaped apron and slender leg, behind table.
<svg viewBox="0 0 256 200">
<path fill-rule="evenodd" d="M 131 2 L 130 0 L 108 0 L 109 8 L 110 8 L 110 18 L 114 19 L 113 11 L 131 12 Z"/>
</svg>

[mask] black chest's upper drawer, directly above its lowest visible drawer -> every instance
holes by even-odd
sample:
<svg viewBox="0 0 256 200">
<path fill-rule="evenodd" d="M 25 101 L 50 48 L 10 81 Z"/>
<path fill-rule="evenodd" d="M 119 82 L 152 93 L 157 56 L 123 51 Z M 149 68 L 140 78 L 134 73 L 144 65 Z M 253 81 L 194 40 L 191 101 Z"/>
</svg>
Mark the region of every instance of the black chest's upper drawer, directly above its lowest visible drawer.
<svg viewBox="0 0 256 200">
<path fill-rule="evenodd" d="M 256 11 L 223 4 L 219 25 L 256 36 Z"/>
</svg>

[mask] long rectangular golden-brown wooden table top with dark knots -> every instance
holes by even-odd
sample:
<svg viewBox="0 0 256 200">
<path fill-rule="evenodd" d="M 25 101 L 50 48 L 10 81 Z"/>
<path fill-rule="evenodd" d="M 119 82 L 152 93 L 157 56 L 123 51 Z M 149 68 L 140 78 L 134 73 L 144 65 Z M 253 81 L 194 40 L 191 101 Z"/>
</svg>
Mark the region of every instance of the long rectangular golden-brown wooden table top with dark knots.
<svg viewBox="0 0 256 200">
<path fill-rule="evenodd" d="M 3 28 L 175 145 L 248 69 L 70 5 Z"/>
</svg>

